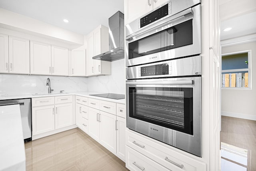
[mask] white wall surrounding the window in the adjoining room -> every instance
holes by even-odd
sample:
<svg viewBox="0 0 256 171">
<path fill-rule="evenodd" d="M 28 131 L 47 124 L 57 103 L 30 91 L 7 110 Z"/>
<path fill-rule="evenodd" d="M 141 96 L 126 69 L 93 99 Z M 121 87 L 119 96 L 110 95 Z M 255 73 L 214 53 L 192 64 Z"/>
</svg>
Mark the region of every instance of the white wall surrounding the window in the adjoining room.
<svg viewBox="0 0 256 171">
<path fill-rule="evenodd" d="M 222 115 L 256 120 L 256 42 L 226 46 L 222 54 L 252 50 L 252 89 L 222 89 Z"/>
</svg>

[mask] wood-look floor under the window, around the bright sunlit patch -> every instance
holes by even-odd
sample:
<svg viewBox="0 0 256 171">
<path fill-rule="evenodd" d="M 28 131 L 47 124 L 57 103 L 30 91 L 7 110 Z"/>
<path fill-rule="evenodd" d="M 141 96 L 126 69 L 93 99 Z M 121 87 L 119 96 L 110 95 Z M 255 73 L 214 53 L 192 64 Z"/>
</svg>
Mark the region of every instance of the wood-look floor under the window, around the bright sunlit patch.
<svg viewBox="0 0 256 171">
<path fill-rule="evenodd" d="M 248 150 L 247 171 L 256 171 L 256 121 L 222 116 L 220 141 Z"/>
</svg>

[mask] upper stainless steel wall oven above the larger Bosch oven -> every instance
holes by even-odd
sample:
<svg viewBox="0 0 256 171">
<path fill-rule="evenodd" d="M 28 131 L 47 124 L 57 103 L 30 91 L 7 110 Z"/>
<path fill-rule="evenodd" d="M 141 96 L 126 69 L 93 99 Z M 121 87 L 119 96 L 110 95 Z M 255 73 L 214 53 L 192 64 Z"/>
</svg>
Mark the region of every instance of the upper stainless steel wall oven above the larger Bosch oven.
<svg viewBox="0 0 256 171">
<path fill-rule="evenodd" d="M 126 66 L 201 54 L 200 0 L 171 0 L 126 25 Z"/>
</svg>

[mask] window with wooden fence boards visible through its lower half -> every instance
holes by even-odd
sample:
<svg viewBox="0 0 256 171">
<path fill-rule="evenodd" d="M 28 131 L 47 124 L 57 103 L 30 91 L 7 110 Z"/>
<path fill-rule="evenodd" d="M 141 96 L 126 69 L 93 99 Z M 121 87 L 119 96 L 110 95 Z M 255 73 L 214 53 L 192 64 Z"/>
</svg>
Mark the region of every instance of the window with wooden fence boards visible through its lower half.
<svg viewBox="0 0 256 171">
<path fill-rule="evenodd" d="M 250 50 L 222 54 L 222 88 L 250 88 Z"/>
</svg>

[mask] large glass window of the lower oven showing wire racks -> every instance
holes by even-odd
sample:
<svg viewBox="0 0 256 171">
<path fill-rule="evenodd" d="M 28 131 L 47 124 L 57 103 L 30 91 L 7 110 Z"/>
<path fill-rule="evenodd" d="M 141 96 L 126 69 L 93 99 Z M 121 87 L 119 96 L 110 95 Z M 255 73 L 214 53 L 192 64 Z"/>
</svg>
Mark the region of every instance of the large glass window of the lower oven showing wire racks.
<svg viewBox="0 0 256 171">
<path fill-rule="evenodd" d="M 193 135 L 193 87 L 129 86 L 129 117 Z"/>
</svg>

